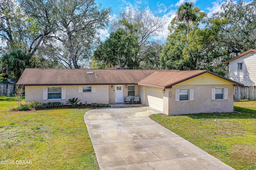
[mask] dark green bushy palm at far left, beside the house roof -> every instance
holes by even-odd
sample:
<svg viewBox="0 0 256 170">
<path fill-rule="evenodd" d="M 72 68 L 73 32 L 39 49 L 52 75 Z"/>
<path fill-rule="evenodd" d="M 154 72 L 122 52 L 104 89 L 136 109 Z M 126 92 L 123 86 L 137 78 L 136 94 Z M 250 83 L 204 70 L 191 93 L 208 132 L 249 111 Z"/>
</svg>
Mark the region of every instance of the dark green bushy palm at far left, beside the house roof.
<svg viewBox="0 0 256 170">
<path fill-rule="evenodd" d="M 2 71 L 12 74 L 19 79 L 25 68 L 29 68 L 29 56 L 20 49 L 3 55 Z"/>
</svg>

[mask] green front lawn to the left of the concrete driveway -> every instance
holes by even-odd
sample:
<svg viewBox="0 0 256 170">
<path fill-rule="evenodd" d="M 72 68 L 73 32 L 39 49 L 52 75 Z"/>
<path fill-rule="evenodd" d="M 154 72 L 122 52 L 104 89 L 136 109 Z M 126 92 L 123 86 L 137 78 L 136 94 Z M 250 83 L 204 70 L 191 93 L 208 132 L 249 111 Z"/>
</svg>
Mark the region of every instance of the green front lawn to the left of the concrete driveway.
<svg viewBox="0 0 256 170">
<path fill-rule="evenodd" d="M 99 169 L 84 123 L 88 109 L 7 110 L 14 107 L 14 98 L 0 97 L 0 161 L 14 160 L 0 169 Z"/>
</svg>

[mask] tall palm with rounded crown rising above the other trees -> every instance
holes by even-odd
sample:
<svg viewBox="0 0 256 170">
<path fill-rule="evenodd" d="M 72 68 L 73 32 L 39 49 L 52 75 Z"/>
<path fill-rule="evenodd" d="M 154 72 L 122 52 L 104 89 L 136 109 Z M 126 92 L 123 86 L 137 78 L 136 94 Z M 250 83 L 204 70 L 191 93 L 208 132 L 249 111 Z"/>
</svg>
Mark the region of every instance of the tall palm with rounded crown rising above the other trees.
<svg viewBox="0 0 256 170">
<path fill-rule="evenodd" d="M 194 14 L 193 9 L 194 9 L 193 2 L 185 2 L 184 4 L 179 6 L 176 13 L 179 21 L 187 22 L 187 38 L 189 34 L 189 22 L 196 20 L 196 14 Z"/>
</svg>

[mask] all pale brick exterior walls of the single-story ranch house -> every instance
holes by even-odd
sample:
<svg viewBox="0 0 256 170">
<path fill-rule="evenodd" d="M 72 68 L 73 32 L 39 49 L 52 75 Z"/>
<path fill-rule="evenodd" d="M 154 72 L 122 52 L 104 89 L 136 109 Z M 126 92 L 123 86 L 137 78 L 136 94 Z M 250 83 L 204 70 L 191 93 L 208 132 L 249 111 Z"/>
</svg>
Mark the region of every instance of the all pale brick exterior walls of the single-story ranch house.
<svg viewBox="0 0 256 170">
<path fill-rule="evenodd" d="M 124 85 L 124 97 L 128 95 L 128 88 Z M 43 87 L 66 87 L 66 99 L 43 100 Z M 95 85 L 96 93 L 78 93 L 78 85 L 66 86 L 25 86 L 25 102 L 38 101 L 41 103 L 62 102 L 78 97 L 83 104 L 115 103 L 115 85 Z M 228 99 L 212 100 L 212 89 L 228 89 Z M 194 101 L 175 101 L 176 89 L 194 89 Z M 172 96 L 170 97 L 170 93 Z M 230 113 L 234 105 L 233 85 L 174 85 L 165 89 L 163 93 L 163 113 L 166 115 L 183 115 L 193 113 Z M 135 85 L 135 96 L 140 96 L 141 103 L 146 105 L 146 87 Z M 144 98 L 144 99 L 143 99 Z"/>
</svg>

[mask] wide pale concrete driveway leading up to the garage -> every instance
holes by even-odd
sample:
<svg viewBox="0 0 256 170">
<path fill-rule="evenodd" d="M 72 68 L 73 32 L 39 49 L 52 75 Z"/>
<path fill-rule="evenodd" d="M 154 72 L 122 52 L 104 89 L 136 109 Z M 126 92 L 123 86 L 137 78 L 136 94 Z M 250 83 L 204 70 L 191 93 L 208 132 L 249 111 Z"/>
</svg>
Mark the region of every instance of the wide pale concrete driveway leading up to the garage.
<svg viewBox="0 0 256 170">
<path fill-rule="evenodd" d="M 231 170 L 152 121 L 148 107 L 93 109 L 84 115 L 101 170 Z"/>
</svg>

